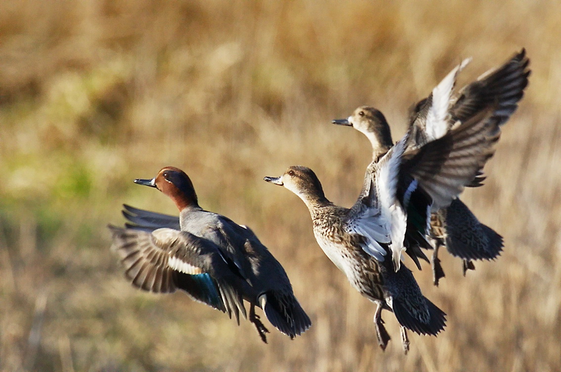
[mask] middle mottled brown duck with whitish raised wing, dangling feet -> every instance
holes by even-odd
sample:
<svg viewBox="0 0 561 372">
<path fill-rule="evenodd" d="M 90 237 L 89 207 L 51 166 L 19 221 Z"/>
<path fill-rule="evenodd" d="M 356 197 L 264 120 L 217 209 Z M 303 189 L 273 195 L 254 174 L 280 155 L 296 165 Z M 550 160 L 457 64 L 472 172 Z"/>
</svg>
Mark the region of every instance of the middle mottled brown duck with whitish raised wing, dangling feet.
<svg viewBox="0 0 561 372">
<path fill-rule="evenodd" d="M 402 143 L 401 151 L 404 148 Z M 405 216 L 394 209 L 396 166 L 399 149 L 382 159 L 371 179 L 368 194 L 351 209 L 334 205 L 325 198 L 321 183 L 311 169 L 289 167 L 280 177 L 265 181 L 291 190 L 307 205 L 314 236 L 328 258 L 346 276 L 351 286 L 377 307 L 376 336 L 385 349 L 390 339 L 381 320 L 381 310 L 393 311 L 401 325 L 404 351 L 409 341 L 405 328 L 419 334 L 436 335 L 444 329 L 445 315 L 421 293 L 413 274 L 404 265 L 394 270 L 392 245 L 403 242 Z M 400 221 L 401 220 L 401 221 Z"/>
</svg>

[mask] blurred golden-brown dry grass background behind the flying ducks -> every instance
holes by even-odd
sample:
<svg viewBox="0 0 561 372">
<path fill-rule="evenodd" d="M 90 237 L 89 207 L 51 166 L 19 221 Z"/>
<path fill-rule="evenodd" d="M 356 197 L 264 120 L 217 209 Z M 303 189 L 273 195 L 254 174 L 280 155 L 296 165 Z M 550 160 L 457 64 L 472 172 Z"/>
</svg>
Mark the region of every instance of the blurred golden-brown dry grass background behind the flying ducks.
<svg viewBox="0 0 561 372">
<path fill-rule="evenodd" d="M 40 371 L 558 371 L 561 369 L 560 2 L 3 0 L 0 4 L 0 369 Z M 311 167 L 350 206 L 370 160 L 330 124 L 380 108 L 394 139 L 408 106 L 461 58 L 460 86 L 526 47 L 533 70 L 486 185 L 466 201 L 504 254 L 425 295 L 438 338 L 374 306 L 316 245 L 304 204 L 263 176 Z M 173 165 L 201 205 L 249 225 L 314 323 L 260 342 L 249 322 L 123 279 L 108 222 L 122 203 L 176 213 L 132 183 Z M 411 265 L 410 265 L 411 266 Z"/>
</svg>

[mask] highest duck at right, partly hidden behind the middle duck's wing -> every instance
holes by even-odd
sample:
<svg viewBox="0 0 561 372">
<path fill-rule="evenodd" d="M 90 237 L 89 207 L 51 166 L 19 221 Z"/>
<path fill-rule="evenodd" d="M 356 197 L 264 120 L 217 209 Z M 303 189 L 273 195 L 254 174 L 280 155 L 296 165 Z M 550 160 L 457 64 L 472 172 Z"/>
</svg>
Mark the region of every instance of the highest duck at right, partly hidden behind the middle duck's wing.
<svg viewBox="0 0 561 372">
<path fill-rule="evenodd" d="M 452 89 L 456 83 L 457 74 L 469 62 L 463 61 L 433 90 L 429 97 L 417 103 L 410 116 L 410 141 L 407 153 L 422 150 L 422 146 L 430 141 L 443 137 L 452 128 L 461 123 L 473 121 L 489 107 L 493 108 L 489 121 L 494 126 L 503 125 L 511 114 L 516 111 L 518 101 L 523 97 L 523 90 L 528 83 L 528 58 L 524 49 L 515 54 L 504 65 L 482 75 L 479 79 L 463 88 L 458 97 L 452 97 Z M 364 117 L 360 112 L 364 112 Z M 353 118 L 354 116 L 354 118 Z M 392 140 L 389 126 L 383 114 L 374 108 L 361 107 L 346 120 L 334 120 L 339 125 L 352 125 L 370 140 L 373 147 L 373 162 L 387 151 Z M 425 155 L 426 157 L 426 155 Z M 478 171 L 471 182 L 465 186 L 481 186 L 485 177 Z M 435 180 L 438 179 L 435 177 Z M 422 183 L 427 194 L 434 196 L 435 192 L 427 182 Z M 438 195 L 438 193 L 436 193 Z M 417 195 L 415 195 L 417 197 Z M 430 238 L 434 242 L 432 266 L 434 283 L 444 276 L 438 259 L 438 247 L 445 246 L 448 251 L 463 259 L 464 273 L 467 268 L 473 268 L 470 260 L 493 259 L 500 254 L 503 247 L 502 237 L 493 229 L 480 223 L 475 215 L 459 199 L 445 200 L 439 198 L 433 205 L 431 216 Z M 450 203 L 448 206 L 447 204 Z M 422 203 L 421 203 L 422 205 Z M 435 211 L 436 209 L 436 211 Z M 409 234 L 408 227 L 408 236 Z M 406 238 L 406 245 L 407 245 Z M 422 247 L 430 248 L 423 240 L 417 240 Z"/>
</svg>

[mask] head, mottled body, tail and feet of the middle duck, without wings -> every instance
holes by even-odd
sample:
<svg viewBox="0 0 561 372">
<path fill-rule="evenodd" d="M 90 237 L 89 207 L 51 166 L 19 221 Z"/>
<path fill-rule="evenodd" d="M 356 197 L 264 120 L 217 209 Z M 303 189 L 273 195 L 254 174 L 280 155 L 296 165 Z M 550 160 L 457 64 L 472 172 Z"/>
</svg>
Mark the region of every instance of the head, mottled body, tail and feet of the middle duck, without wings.
<svg viewBox="0 0 561 372">
<path fill-rule="evenodd" d="M 404 328 L 430 335 L 444 328 L 445 314 L 422 295 L 411 271 L 401 265 L 395 272 L 391 260 L 376 260 L 365 251 L 368 238 L 350 232 L 349 226 L 361 223 L 358 220 L 365 209 L 371 208 L 368 201 L 359 199 L 352 209 L 334 205 L 325 198 L 318 177 L 306 167 L 289 167 L 282 176 L 265 177 L 265 181 L 286 187 L 304 201 L 321 249 L 346 274 L 351 286 L 377 305 L 374 323 L 381 348 L 385 349 L 390 339 L 380 317 L 382 309 L 393 311 L 401 324 L 405 351 L 409 341 Z M 389 255 L 388 244 L 381 245 Z"/>
</svg>

